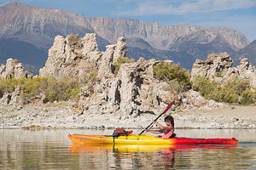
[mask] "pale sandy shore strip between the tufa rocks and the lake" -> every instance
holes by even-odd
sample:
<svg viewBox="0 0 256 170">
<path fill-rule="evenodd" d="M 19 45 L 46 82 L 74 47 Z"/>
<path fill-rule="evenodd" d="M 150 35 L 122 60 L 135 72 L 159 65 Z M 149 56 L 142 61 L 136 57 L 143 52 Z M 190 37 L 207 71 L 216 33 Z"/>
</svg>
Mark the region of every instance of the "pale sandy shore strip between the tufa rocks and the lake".
<svg viewBox="0 0 256 170">
<path fill-rule="evenodd" d="M 168 111 L 176 128 L 256 128 L 256 106 L 230 106 L 223 109 Z M 143 128 L 156 115 L 142 114 L 122 119 L 118 115 L 79 114 L 67 103 L 1 107 L 0 128 Z M 159 122 L 163 123 L 164 116 Z"/>
</svg>

